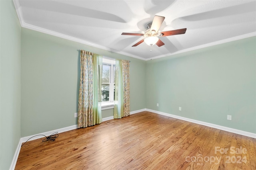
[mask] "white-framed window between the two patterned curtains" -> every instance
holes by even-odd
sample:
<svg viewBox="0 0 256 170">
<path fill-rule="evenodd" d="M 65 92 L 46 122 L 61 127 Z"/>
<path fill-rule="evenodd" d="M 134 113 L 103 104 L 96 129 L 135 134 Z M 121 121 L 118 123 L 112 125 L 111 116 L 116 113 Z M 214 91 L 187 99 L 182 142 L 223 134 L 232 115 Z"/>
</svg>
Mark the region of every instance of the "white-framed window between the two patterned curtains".
<svg viewBox="0 0 256 170">
<path fill-rule="evenodd" d="M 102 106 L 114 105 L 115 60 L 102 59 Z"/>
</svg>

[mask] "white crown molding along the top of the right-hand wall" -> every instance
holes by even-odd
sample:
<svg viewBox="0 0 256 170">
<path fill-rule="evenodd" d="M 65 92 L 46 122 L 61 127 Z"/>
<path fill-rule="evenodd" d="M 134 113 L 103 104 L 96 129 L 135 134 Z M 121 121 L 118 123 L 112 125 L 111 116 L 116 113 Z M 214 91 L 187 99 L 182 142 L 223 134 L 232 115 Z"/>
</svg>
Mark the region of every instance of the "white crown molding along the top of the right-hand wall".
<svg viewBox="0 0 256 170">
<path fill-rule="evenodd" d="M 244 34 L 244 35 L 239 35 L 239 36 L 236 36 L 236 37 L 232 37 L 232 38 L 228 38 L 228 39 L 223 39 L 223 40 L 220 40 L 220 41 L 215 41 L 213 43 L 199 45 L 199 46 L 196 46 L 196 47 L 192 47 L 192 48 L 189 48 L 189 49 L 184 49 L 184 50 L 176 51 L 174 53 L 169 53 L 169 54 L 166 54 L 166 55 L 159 55 L 159 56 L 156 56 L 156 57 L 152 57 L 150 59 L 146 59 L 146 61 L 153 60 L 153 59 L 159 59 L 159 58 L 167 57 L 167 56 L 172 56 L 172 55 L 176 55 L 176 54 L 180 54 L 180 53 L 185 53 L 185 52 L 188 52 L 188 51 L 202 49 L 202 48 L 205 48 L 205 47 L 210 47 L 210 46 L 214 46 L 214 45 L 228 43 L 228 42 L 231 42 L 231 41 L 236 41 L 236 40 L 240 40 L 240 39 L 244 39 L 244 38 L 249 38 L 249 37 L 254 37 L 254 36 L 256 36 L 256 32 L 252 32 L 252 33 L 248 33 L 248 34 Z"/>
</svg>

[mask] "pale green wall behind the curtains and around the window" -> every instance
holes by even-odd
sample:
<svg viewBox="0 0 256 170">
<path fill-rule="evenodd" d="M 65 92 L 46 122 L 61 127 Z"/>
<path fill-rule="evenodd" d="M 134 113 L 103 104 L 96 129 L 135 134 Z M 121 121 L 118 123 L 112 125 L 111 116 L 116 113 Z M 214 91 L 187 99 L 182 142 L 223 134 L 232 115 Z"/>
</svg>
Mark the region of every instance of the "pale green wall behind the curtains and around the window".
<svg viewBox="0 0 256 170">
<path fill-rule="evenodd" d="M 80 52 L 130 63 L 130 110 L 146 107 L 146 61 L 22 28 L 22 137 L 77 124 Z M 103 110 L 102 118 L 110 111 Z M 113 115 L 113 114 L 112 114 Z"/>
</svg>

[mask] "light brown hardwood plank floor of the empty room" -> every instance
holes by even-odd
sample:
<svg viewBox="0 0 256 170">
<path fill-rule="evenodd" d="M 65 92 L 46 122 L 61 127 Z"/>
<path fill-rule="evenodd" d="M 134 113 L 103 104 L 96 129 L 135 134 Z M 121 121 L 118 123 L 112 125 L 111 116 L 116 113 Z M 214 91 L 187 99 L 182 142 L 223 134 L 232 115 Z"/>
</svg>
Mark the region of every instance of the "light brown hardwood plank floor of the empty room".
<svg viewBox="0 0 256 170">
<path fill-rule="evenodd" d="M 29 141 L 15 169 L 256 170 L 254 138 L 148 111 L 115 121 Z"/>
</svg>

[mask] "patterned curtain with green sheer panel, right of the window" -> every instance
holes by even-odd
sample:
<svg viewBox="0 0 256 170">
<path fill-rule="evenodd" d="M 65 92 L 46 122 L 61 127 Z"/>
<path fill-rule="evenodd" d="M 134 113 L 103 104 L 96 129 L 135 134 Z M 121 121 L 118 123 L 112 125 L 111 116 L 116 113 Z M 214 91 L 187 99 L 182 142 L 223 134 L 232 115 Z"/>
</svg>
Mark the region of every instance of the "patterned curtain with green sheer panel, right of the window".
<svg viewBox="0 0 256 170">
<path fill-rule="evenodd" d="M 130 61 L 116 60 L 114 119 L 130 115 Z"/>
</svg>

